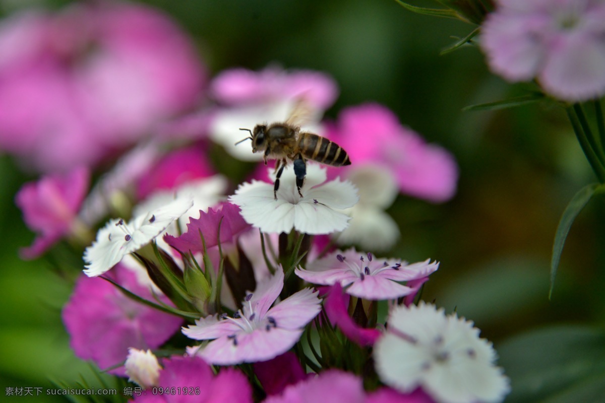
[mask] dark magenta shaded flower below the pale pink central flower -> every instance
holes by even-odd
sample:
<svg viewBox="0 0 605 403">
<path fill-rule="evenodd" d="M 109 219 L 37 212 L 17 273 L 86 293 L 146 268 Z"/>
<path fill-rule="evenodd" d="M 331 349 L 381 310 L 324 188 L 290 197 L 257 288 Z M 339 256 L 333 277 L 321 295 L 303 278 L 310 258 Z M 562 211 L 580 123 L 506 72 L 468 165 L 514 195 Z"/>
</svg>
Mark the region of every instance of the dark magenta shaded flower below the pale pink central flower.
<svg viewBox="0 0 605 403">
<path fill-rule="evenodd" d="M 307 379 L 295 353 L 288 351 L 269 361 L 253 364 L 254 373 L 267 395 L 283 392 L 288 385 Z"/>
</svg>

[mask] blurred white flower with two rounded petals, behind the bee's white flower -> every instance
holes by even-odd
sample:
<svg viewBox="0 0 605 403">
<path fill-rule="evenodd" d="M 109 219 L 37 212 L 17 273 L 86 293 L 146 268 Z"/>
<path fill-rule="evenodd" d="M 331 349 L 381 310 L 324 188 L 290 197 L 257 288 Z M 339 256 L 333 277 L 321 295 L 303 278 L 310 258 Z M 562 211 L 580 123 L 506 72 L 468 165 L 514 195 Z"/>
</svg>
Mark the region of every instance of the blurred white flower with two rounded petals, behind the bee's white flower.
<svg viewBox="0 0 605 403">
<path fill-rule="evenodd" d="M 339 245 L 359 245 L 361 249 L 384 251 L 399 238 L 399 227 L 385 209 L 399 193 L 393 175 L 373 164 L 350 167 L 346 178 L 359 189 L 359 202 L 345 210 L 351 221 L 334 238 Z"/>
</svg>

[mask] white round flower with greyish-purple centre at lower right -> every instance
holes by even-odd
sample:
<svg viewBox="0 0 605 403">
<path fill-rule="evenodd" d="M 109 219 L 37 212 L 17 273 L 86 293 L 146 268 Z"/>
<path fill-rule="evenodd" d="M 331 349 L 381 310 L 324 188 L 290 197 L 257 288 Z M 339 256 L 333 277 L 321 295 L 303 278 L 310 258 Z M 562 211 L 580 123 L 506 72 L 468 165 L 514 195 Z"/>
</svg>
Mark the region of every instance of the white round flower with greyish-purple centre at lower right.
<svg viewBox="0 0 605 403">
<path fill-rule="evenodd" d="M 421 386 L 437 403 L 501 402 L 509 380 L 479 332 L 473 322 L 431 304 L 396 306 L 374 344 L 376 372 L 403 393 Z"/>
</svg>

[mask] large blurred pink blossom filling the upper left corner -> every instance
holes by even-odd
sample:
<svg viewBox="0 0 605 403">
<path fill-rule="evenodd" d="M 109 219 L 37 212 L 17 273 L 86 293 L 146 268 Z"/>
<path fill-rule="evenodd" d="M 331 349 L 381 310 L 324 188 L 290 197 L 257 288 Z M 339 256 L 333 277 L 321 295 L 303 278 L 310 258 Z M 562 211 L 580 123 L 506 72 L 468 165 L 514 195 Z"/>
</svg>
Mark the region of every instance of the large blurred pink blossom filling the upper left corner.
<svg viewBox="0 0 605 403">
<path fill-rule="evenodd" d="M 120 2 L 12 16 L 0 24 L 0 60 L 0 150 L 42 172 L 131 146 L 194 105 L 205 81 L 165 15 Z"/>
</svg>

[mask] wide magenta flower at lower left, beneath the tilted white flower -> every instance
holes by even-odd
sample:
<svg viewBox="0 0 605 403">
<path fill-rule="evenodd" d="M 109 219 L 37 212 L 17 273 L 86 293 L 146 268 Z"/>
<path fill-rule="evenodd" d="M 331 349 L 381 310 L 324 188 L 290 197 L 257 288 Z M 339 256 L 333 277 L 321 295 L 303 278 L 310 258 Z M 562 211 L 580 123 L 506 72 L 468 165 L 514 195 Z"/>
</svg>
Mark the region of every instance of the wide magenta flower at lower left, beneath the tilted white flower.
<svg viewBox="0 0 605 403">
<path fill-rule="evenodd" d="M 106 274 L 129 291 L 155 301 L 149 288 L 122 265 Z M 168 298 L 160 297 L 171 304 Z M 79 358 L 93 360 L 101 369 L 125 361 L 128 348 L 155 349 L 183 323 L 181 318 L 156 311 L 126 297 L 116 286 L 99 278 L 82 276 L 63 308 L 63 323 L 70 346 Z M 125 375 L 123 367 L 110 371 Z"/>
</svg>

